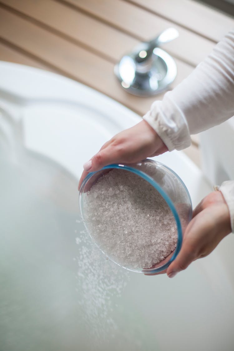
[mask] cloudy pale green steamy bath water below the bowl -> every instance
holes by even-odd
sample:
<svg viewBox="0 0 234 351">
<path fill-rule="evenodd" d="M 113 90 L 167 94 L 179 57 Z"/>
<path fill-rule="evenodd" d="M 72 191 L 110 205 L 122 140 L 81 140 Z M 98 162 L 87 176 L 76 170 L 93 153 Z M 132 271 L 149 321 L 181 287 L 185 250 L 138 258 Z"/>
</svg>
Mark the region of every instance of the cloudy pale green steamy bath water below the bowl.
<svg viewBox="0 0 234 351">
<path fill-rule="evenodd" d="M 170 280 L 112 264 L 84 231 L 78 179 L 2 150 L 1 351 L 195 351 L 201 323 L 204 349 L 232 345 L 232 302 L 199 266 Z"/>
</svg>

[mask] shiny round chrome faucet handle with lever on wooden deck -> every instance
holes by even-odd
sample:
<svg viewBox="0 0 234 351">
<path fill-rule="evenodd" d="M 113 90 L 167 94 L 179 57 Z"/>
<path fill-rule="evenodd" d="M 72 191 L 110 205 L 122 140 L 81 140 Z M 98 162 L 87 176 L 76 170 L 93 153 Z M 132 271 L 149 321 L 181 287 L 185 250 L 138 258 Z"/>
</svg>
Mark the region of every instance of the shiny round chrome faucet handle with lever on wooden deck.
<svg viewBox="0 0 234 351">
<path fill-rule="evenodd" d="M 174 59 L 159 45 L 177 38 L 177 29 L 168 28 L 155 39 L 142 42 L 122 57 L 114 73 L 122 87 L 138 96 L 150 96 L 167 89 L 177 74 Z"/>
</svg>

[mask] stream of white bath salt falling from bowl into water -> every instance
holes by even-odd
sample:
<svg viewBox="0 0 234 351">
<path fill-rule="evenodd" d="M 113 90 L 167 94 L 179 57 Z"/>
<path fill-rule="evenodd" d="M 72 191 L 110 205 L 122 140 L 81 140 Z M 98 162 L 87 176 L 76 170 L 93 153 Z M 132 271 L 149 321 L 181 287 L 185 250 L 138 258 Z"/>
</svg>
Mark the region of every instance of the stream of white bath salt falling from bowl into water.
<svg viewBox="0 0 234 351">
<path fill-rule="evenodd" d="M 116 323 L 114 310 L 129 280 L 128 271 L 123 271 L 98 249 L 85 230 L 76 238 L 78 244 L 77 293 L 79 294 L 80 317 L 92 348 L 101 350 L 101 344 L 122 331 Z M 126 339 L 126 336 L 125 336 Z M 131 344 L 133 340 L 131 340 Z M 119 347 L 118 350 L 123 349 Z M 135 350 L 138 348 L 135 347 Z"/>
</svg>

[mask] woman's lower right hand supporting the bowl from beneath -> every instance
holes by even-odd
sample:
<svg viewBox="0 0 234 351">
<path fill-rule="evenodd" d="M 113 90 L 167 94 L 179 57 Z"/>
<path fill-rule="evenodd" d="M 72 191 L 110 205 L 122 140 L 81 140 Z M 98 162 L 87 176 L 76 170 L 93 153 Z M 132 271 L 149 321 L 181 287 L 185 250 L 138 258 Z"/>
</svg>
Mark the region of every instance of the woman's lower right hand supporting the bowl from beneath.
<svg viewBox="0 0 234 351">
<path fill-rule="evenodd" d="M 230 214 L 222 193 L 214 191 L 208 194 L 193 211 L 181 250 L 167 268 L 168 277 L 173 278 L 192 261 L 207 256 L 231 231 Z"/>
</svg>

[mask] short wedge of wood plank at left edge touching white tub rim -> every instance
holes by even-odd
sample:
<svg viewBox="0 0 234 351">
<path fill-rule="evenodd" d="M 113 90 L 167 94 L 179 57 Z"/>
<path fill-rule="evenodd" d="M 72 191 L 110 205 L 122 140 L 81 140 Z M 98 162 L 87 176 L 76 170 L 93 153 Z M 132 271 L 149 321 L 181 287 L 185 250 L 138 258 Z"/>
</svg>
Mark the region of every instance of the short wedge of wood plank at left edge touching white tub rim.
<svg viewBox="0 0 234 351">
<path fill-rule="evenodd" d="M 0 42 L 0 60 L 56 72 L 55 69 L 42 64 L 41 62 L 29 57 L 27 54 L 18 51 L 13 46 L 6 45 L 3 42 Z"/>
</svg>

